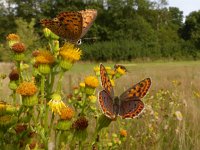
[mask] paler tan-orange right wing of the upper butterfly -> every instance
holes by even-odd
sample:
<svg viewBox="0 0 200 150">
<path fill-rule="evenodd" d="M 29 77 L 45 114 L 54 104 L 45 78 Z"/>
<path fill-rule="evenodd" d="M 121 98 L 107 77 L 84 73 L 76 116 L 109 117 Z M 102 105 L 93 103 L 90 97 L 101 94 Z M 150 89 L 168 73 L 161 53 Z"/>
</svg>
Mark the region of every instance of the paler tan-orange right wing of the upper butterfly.
<svg viewBox="0 0 200 150">
<path fill-rule="evenodd" d="M 81 10 L 79 12 L 82 14 L 82 17 L 83 17 L 82 34 L 80 37 L 80 38 L 82 38 L 87 33 L 89 28 L 92 26 L 94 20 L 96 19 L 97 10 L 86 9 L 86 10 Z"/>
</svg>

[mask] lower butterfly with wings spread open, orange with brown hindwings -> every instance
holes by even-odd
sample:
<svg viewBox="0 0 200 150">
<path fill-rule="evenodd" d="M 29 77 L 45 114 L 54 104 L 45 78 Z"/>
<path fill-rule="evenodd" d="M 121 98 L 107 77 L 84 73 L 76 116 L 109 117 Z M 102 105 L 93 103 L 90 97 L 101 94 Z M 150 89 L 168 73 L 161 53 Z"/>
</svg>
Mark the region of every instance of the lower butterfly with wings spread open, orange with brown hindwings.
<svg viewBox="0 0 200 150">
<path fill-rule="evenodd" d="M 114 97 L 114 90 L 107 71 L 100 64 L 101 84 L 104 88 L 99 92 L 99 103 L 103 113 L 114 120 L 117 116 L 125 118 L 137 117 L 144 109 L 141 101 L 151 86 L 151 79 L 146 78 L 123 92 L 119 97 Z"/>
</svg>

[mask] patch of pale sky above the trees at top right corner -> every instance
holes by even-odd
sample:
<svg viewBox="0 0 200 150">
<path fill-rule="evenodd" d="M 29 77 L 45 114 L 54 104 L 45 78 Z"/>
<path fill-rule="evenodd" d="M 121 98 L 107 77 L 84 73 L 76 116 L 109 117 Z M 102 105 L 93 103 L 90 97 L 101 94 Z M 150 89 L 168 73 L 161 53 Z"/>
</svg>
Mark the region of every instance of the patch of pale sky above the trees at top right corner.
<svg viewBox="0 0 200 150">
<path fill-rule="evenodd" d="M 192 11 L 200 10 L 200 0 L 168 0 L 168 4 L 183 11 L 184 17 Z"/>
</svg>

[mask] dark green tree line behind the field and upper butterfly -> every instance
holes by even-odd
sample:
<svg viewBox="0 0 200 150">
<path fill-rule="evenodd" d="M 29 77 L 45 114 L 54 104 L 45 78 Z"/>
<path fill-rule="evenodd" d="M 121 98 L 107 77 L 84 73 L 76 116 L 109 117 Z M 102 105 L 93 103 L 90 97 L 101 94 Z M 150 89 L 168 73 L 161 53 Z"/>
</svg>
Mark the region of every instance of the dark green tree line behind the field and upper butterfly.
<svg viewBox="0 0 200 150">
<path fill-rule="evenodd" d="M 167 0 L 1 0 L 0 52 L 6 35 L 16 32 L 30 50 L 42 47 L 40 19 L 88 8 L 98 17 L 83 38 L 84 60 L 200 58 L 200 11 L 183 20 L 183 11 Z"/>
</svg>

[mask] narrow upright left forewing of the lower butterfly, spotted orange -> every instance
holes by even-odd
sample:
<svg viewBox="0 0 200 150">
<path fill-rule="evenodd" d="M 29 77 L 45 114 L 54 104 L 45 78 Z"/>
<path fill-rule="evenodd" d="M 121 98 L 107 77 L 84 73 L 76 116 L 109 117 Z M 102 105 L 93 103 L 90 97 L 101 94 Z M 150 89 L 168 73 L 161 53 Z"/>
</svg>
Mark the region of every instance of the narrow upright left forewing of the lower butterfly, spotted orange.
<svg viewBox="0 0 200 150">
<path fill-rule="evenodd" d="M 114 98 L 114 91 L 113 86 L 111 84 L 111 81 L 108 77 L 106 68 L 103 64 L 100 64 L 100 76 L 101 76 L 101 84 L 102 87 L 105 89 L 105 91 L 111 96 L 111 98 Z"/>
</svg>

